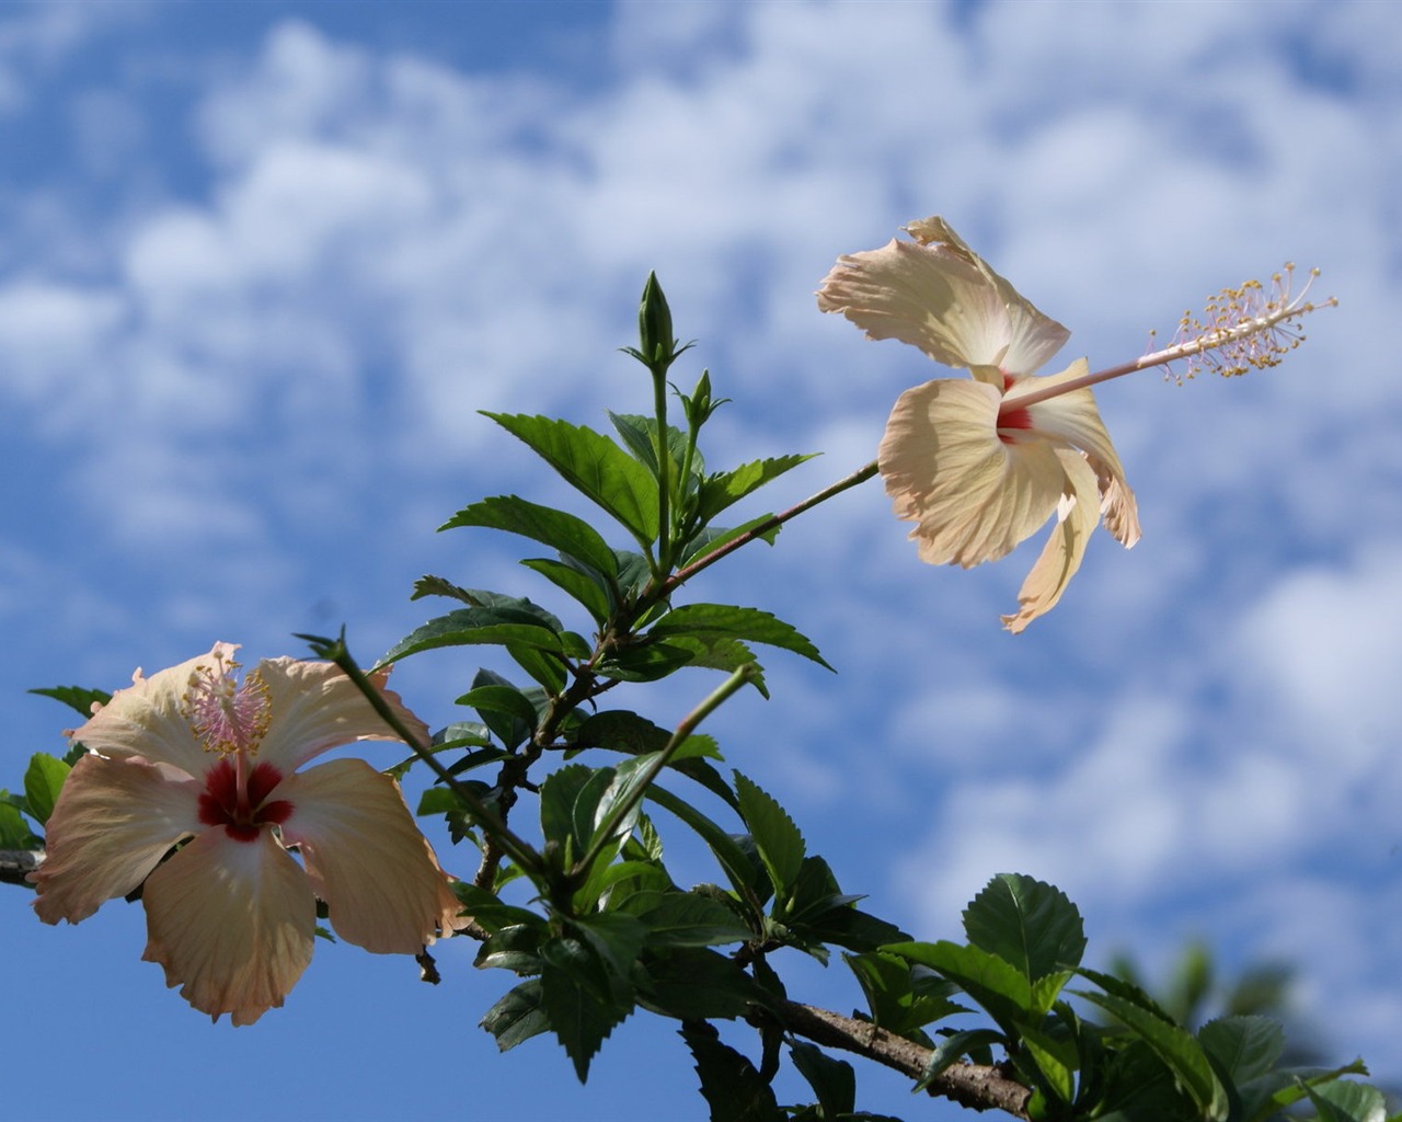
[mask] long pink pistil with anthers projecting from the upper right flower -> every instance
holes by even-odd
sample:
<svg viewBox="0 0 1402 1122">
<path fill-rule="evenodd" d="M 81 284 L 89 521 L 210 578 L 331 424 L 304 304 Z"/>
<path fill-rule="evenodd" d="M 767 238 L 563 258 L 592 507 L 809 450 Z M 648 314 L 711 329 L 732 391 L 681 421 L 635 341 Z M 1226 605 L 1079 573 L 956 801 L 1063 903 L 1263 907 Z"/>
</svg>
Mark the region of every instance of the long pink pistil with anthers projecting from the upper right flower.
<svg viewBox="0 0 1402 1122">
<path fill-rule="evenodd" d="M 1002 415 L 1014 417 L 1039 401 L 1060 397 L 1087 386 L 1098 386 L 1102 381 L 1152 366 L 1168 367 L 1168 376 L 1179 384 L 1196 377 L 1203 370 L 1214 370 L 1223 377 L 1232 377 L 1244 374 L 1252 367 L 1265 370 L 1270 366 L 1279 366 L 1287 353 L 1305 341 L 1304 334 L 1298 330 L 1298 321 L 1321 307 L 1339 306 L 1339 300 L 1333 296 L 1319 304 L 1305 299 L 1309 286 L 1319 275 L 1319 269 L 1309 269 L 1305 286 L 1297 295 L 1291 295 L 1294 271 L 1294 264 L 1286 262 L 1283 272 L 1273 273 L 1269 296 L 1265 285 L 1259 280 L 1245 280 L 1239 288 L 1227 288 L 1209 297 L 1203 318 L 1197 318 L 1192 311 L 1185 311 L 1172 345 L 1162 351 L 1152 351 L 1134 362 L 1057 381 L 1053 386 L 1037 386 L 1037 380 L 1026 379 L 1019 386 L 1009 387 L 1004 398 L 1000 426 L 1005 426 Z M 1186 362 L 1186 372 L 1176 373 L 1172 369 L 1175 362 Z"/>
</svg>

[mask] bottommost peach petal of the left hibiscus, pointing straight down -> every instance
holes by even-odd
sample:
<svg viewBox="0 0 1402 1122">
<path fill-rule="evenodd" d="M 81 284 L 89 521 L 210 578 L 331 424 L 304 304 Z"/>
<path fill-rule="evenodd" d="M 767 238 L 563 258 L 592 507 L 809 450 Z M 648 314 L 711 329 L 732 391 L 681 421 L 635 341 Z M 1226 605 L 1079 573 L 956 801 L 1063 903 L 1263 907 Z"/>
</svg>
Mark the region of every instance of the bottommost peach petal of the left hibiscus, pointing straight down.
<svg viewBox="0 0 1402 1122">
<path fill-rule="evenodd" d="M 278 1008 L 311 961 L 311 882 L 269 829 L 254 842 L 205 830 L 150 875 L 142 902 L 143 958 L 216 1021 Z"/>
</svg>

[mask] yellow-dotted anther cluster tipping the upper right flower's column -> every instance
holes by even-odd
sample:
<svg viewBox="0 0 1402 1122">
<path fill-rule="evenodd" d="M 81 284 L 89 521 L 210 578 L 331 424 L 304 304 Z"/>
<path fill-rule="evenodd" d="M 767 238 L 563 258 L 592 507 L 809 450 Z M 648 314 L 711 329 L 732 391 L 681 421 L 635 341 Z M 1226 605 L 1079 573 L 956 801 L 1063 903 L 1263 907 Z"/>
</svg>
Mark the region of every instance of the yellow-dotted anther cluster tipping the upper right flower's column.
<svg viewBox="0 0 1402 1122">
<path fill-rule="evenodd" d="M 1316 307 L 1305 300 L 1305 293 L 1319 269 L 1309 271 L 1309 280 L 1298 295 L 1291 292 L 1294 271 L 1294 264 L 1286 262 L 1283 272 L 1272 275 L 1269 293 L 1259 280 L 1223 289 L 1207 300 L 1202 318 L 1185 311 L 1172 346 L 1161 352 L 1164 358 L 1159 360 L 1185 359 L 1187 369 L 1178 373 L 1169 366 L 1169 376 L 1182 384 L 1202 370 L 1232 377 L 1252 367 L 1265 370 L 1277 366 L 1305 341 L 1298 320 Z M 1325 306 L 1338 303 L 1330 296 Z"/>
</svg>

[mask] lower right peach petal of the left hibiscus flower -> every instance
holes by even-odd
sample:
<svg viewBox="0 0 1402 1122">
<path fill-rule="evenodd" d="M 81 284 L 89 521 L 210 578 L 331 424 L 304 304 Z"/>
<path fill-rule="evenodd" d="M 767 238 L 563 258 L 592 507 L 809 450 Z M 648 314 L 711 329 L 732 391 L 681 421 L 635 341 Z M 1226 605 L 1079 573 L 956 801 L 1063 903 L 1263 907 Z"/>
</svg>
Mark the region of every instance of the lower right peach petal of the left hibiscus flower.
<svg viewBox="0 0 1402 1122">
<path fill-rule="evenodd" d="M 414 825 L 400 785 L 365 760 L 331 760 L 278 788 L 293 805 L 282 837 L 301 849 L 331 924 L 377 954 L 418 954 L 461 906 Z"/>
</svg>

